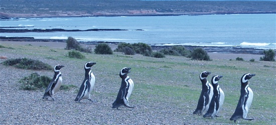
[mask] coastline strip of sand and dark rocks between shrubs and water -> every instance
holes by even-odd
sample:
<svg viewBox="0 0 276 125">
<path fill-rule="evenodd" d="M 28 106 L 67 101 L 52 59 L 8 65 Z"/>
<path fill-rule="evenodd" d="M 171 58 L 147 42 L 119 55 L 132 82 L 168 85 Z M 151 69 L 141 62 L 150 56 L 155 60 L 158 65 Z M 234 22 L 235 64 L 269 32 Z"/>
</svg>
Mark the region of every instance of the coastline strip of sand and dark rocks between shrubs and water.
<svg viewBox="0 0 276 125">
<path fill-rule="evenodd" d="M 81 43 L 82 46 L 84 47 L 90 47 L 92 49 L 95 48 L 95 46 L 98 43 L 102 43 L 101 42 L 94 42 L 91 44 L 84 44 Z M 118 46 L 118 42 L 105 42 L 107 43 L 112 50 L 116 49 Z M 0 39 L 0 44 L 9 44 L 9 45 L 33 45 L 33 46 L 46 46 L 46 47 L 50 47 L 50 48 L 56 48 L 56 49 L 64 49 L 66 47 L 66 40 L 62 40 L 62 39 L 51 39 L 51 41 L 49 41 L 49 39 L 37 39 L 36 41 L 33 40 L 3 40 Z M 160 50 L 162 48 L 166 48 L 166 47 L 170 47 L 170 46 L 156 46 L 156 45 L 151 45 L 153 50 Z M 203 49 L 205 49 L 208 52 L 208 55 L 210 56 L 211 59 L 217 60 L 217 59 L 232 59 L 235 60 L 236 57 L 242 57 L 244 60 L 250 60 L 250 59 L 255 59 L 255 60 L 259 60 L 260 57 L 263 56 L 262 49 L 259 49 L 259 52 L 256 52 L 256 49 L 251 48 L 242 48 L 242 47 L 238 47 L 239 49 L 231 49 L 231 48 L 225 48 L 225 47 L 218 47 L 218 46 L 186 46 L 184 45 L 185 48 L 187 49 L 193 49 L 195 47 L 202 47 Z M 227 52 L 223 52 L 227 51 Z M 5 56 L 5 55 L 4 55 Z"/>
</svg>

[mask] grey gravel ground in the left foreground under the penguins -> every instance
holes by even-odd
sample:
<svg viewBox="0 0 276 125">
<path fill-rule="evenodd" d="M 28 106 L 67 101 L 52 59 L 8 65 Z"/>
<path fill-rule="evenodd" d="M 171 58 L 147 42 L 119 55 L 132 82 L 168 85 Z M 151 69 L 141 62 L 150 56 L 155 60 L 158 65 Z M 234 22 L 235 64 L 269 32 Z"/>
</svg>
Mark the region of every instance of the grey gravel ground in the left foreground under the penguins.
<svg viewBox="0 0 276 125">
<path fill-rule="evenodd" d="M 3 51 L 1 55 L 9 58 L 22 57 L 21 54 Z M 53 66 L 64 63 L 62 60 L 49 60 L 35 55 L 24 55 L 24 57 L 39 59 Z M 0 59 L 0 63 L 2 61 L 4 59 Z M 73 61 L 68 62 L 66 66 L 69 68 L 61 69 L 63 84 L 79 86 L 83 80 L 79 76 L 83 76 L 84 69 L 80 70 L 79 66 L 74 66 Z M 20 89 L 18 81 L 32 72 L 47 76 L 54 74 L 53 71 L 18 69 L 0 64 L 0 124 L 222 124 L 217 120 L 192 114 L 196 103 L 189 101 L 180 103 L 179 106 L 172 106 L 151 99 L 136 100 L 130 96 L 129 104 L 130 106 L 135 105 L 135 108 L 112 109 L 112 102 L 120 87 L 120 78 L 118 74 L 114 74 L 115 78 L 108 80 L 99 78 L 100 75 L 107 74 L 107 72 L 94 73 L 96 83 L 91 98 L 97 102 L 87 99 L 81 100 L 81 103 L 75 102 L 74 98 L 77 95 L 75 89 L 59 90 L 55 95 L 55 101 L 45 101 L 42 100 L 44 90 Z M 131 77 L 131 74 L 129 75 Z M 134 79 L 133 81 L 135 83 Z M 132 94 L 139 96 L 140 92 L 134 88 Z M 189 105 L 195 105 L 195 107 L 189 107 Z M 222 116 L 218 118 L 228 119 L 230 114 L 223 110 L 221 111 Z M 229 123 L 232 122 L 229 120 L 227 124 Z"/>
</svg>

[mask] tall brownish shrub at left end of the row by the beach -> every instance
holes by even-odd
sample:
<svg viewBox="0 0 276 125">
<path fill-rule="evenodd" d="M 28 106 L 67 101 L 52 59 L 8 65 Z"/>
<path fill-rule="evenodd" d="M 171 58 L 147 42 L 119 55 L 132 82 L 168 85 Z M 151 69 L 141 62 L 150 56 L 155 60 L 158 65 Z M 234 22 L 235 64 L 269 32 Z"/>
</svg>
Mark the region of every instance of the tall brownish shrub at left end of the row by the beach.
<svg viewBox="0 0 276 125">
<path fill-rule="evenodd" d="M 69 36 L 68 39 L 66 40 L 66 47 L 65 49 L 74 49 L 74 50 L 78 50 L 81 52 L 88 52 L 88 53 L 92 53 L 92 48 L 91 47 L 87 47 L 84 48 L 80 45 L 80 42 L 78 42 L 75 38 Z"/>
</svg>

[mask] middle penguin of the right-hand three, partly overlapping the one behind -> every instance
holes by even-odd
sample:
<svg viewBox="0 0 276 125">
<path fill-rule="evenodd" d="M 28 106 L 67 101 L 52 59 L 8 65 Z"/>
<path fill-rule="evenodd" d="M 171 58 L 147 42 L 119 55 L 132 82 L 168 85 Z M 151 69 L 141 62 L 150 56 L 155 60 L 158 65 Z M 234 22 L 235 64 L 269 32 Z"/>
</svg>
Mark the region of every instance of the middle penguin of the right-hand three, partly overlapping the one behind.
<svg viewBox="0 0 276 125">
<path fill-rule="evenodd" d="M 210 105 L 209 105 L 209 109 L 207 110 L 207 112 L 203 115 L 203 117 L 211 117 L 213 118 L 214 116 L 218 116 L 218 112 L 221 109 L 222 105 L 223 105 L 223 101 L 224 101 L 224 92 L 223 90 L 220 88 L 219 84 L 218 84 L 218 80 L 222 78 L 222 75 L 216 75 L 212 77 L 212 86 L 214 88 L 214 94 L 213 97 L 211 99 Z"/>
</svg>

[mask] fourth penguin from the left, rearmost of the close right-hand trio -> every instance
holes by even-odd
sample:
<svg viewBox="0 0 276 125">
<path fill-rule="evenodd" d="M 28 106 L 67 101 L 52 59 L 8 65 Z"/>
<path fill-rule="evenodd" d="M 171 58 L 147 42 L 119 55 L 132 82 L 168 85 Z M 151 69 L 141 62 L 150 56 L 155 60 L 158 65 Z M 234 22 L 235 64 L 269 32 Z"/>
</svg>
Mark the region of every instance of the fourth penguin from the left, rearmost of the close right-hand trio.
<svg viewBox="0 0 276 125">
<path fill-rule="evenodd" d="M 202 71 L 200 73 L 200 80 L 202 83 L 202 90 L 198 99 L 197 107 L 193 114 L 202 114 L 203 112 L 207 111 L 209 108 L 209 104 L 211 102 L 211 98 L 213 97 L 213 86 L 207 80 L 207 76 L 211 72 Z"/>
</svg>

